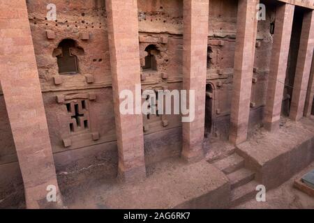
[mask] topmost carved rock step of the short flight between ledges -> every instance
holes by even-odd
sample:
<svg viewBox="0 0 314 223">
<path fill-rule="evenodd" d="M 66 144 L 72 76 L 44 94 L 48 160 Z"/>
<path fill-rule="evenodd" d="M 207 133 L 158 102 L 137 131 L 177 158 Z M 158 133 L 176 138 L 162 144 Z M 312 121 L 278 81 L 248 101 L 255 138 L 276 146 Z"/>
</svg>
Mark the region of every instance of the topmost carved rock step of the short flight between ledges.
<svg viewBox="0 0 314 223">
<path fill-rule="evenodd" d="M 223 171 L 225 174 L 230 174 L 238 169 L 244 167 L 244 158 L 233 153 L 232 155 L 223 158 L 223 160 L 218 160 L 214 162 L 214 166 Z"/>
</svg>

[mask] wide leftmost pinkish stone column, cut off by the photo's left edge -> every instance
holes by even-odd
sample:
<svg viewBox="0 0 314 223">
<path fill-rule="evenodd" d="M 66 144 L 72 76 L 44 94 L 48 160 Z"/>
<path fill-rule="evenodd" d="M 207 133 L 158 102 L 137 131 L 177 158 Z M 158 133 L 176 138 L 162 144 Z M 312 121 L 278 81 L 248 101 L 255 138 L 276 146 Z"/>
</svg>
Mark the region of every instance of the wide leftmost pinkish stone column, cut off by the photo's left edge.
<svg viewBox="0 0 314 223">
<path fill-rule="evenodd" d="M 61 205 L 24 0 L 0 0 L 0 80 L 22 172 L 27 208 Z M 47 203 L 54 185 L 59 202 Z"/>
</svg>

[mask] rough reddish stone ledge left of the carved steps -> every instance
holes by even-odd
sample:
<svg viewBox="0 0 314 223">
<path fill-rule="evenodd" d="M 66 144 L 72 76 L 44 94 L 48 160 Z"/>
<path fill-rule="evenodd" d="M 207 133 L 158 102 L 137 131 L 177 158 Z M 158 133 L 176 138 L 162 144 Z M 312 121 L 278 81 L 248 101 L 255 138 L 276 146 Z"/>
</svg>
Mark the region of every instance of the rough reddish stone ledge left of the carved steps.
<svg viewBox="0 0 314 223">
<path fill-rule="evenodd" d="M 110 208 L 226 208 L 230 185 L 225 175 L 206 161 L 178 164 L 146 180 L 107 193 Z"/>
</svg>

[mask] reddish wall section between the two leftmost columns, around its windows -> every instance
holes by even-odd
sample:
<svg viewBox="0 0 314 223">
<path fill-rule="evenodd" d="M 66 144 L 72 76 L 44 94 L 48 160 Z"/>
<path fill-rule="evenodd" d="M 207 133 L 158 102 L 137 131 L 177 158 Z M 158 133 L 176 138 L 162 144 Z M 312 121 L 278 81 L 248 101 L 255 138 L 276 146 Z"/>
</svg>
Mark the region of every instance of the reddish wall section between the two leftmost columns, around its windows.
<svg viewBox="0 0 314 223">
<path fill-rule="evenodd" d="M 54 160 L 60 187 L 65 190 L 83 178 L 117 174 L 105 1 L 54 1 L 56 22 L 45 20 L 47 3 L 50 1 L 29 1 L 27 7 Z M 55 38 L 48 39 L 45 31 L 54 32 Z M 82 40 L 83 34 L 89 39 Z M 80 51 L 76 54 L 77 75 L 59 75 L 57 57 L 53 55 L 61 40 L 67 38 L 75 40 Z M 92 81 L 87 82 L 90 77 Z M 54 78 L 61 79 L 61 84 L 55 84 Z M 60 95 L 73 100 L 57 102 Z M 86 95 L 88 129 L 70 132 L 65 104 Z M 96 99 L 90 100 L 89 95 Z M 64 140 L 70 140 L 70 145 L 65 145 Z"/>
</svg>

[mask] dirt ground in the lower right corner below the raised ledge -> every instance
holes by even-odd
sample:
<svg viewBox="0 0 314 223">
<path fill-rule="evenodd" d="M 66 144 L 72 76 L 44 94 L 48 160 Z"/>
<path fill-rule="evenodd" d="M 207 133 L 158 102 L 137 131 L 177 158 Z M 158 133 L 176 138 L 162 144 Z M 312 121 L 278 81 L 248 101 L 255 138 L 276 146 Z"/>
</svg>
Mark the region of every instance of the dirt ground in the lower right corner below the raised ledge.
<svg viewBox="0 0 314 223">
<path fill-rule="evenodd" d="M 314 169 L 314 162 L 308 168 L 296 174 L 280 187 L 270 190 L 266 194 L 266 202 L 257 202 L 255 199 L 247 201 L 236 209 L 314 209 L 314 197 L 309 197 L 304 192 L 293 187 L 294 180 Z"/>
</svg>

